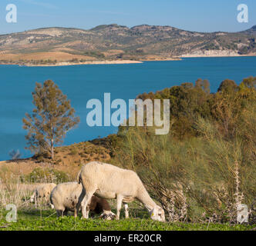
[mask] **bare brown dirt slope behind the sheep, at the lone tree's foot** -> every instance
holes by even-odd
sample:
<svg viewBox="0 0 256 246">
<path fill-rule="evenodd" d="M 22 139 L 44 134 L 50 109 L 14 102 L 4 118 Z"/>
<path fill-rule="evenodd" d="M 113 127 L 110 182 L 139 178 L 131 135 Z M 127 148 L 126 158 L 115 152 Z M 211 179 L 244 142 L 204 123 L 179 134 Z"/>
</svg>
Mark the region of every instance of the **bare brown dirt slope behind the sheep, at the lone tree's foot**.
<svg viewBox="0 0 256 246">
<path fill-rule="evenodd" d="M 90 142 L 55 148 L 55 160 L 38 156 L 17 161 L 0 161 L 0 178 L 3 175 L 20 177 L 29 175 L 35 168 L 50 168 L 64 171 L 73 180 L 83 165 L 90 161 L 108 162 L 109 149 Z M 5 177 L 6 178 L 6 177 Z"/>
</svg>

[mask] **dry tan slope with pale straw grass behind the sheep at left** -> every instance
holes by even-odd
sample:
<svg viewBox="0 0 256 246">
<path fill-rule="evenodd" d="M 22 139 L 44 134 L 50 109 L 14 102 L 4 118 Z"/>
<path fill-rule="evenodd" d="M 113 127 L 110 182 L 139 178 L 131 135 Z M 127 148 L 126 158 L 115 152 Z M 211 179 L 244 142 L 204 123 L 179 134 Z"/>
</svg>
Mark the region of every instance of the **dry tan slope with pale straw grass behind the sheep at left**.
<svg viewBox="0 0 256 246">
<path fill-rule="evenodd" d="M 89 142 L 55 148 L 55 151 L 55 164 L 43 156 L 18 161 L 0 161 L 0 208 L 5 208 L 6 204 L 15 204 L 19 209 L 34 209 L 29 197 L 38 184 L 32 184 L 31 181 L 56 184 L 59 178 L 76 181 L 77 173 L 83 164 L 110 159 L 107 148 Z M 62 176 L 62 173 L 66 177 Z M 45 208 L 47 207 L 40 207 Z"/>
</svg>

